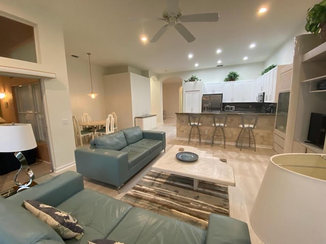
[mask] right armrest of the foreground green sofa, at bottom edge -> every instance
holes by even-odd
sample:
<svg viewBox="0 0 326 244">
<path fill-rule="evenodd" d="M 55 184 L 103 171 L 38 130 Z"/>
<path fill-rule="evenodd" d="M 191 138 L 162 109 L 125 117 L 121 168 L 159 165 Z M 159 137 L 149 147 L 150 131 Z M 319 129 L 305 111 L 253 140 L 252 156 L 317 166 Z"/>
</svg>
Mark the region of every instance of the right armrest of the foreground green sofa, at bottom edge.
<svg viewBox="0 0 326 244">
<path fill-rule="evenodd" d="M 210 214 L 206 244 L 251 243 L 247 223 L 218 214 Z"/>
</svg>

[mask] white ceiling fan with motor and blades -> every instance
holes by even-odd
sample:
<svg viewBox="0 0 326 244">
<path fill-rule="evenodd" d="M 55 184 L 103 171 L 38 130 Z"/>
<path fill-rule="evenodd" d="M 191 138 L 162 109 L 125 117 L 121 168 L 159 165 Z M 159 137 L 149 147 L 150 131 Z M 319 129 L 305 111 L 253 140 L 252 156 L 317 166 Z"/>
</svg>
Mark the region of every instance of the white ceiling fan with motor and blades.
<svg viewBox="0 0 326 244">
<path fill-rule="evenodd" d="M 163 11 L 161 20 L 167 21 L 168 24 L 161 27 L 150 42 L 156 42 L 171 26 L 174 26 L 187 42 L 193 42 L 196 38 L 179 22 L 216 22 L 219 20 L 218 13 L 182 15 L 178 3 L 179 0 L 167 0 L 167 9 Z"/>
</svg>

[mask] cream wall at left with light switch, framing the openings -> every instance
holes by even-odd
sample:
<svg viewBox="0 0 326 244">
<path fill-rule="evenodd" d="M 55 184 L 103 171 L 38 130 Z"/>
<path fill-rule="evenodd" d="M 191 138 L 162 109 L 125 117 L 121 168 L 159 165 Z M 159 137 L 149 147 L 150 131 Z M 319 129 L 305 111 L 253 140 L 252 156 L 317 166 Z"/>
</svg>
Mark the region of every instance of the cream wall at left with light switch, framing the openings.
<svg viewBox="0 0 326 244">
<path fill-rule="evenodd" d="M 38 63 L 0 57 L 0 66 L 56 74 L 54 79 L 42 78 L 41 84 L 53 170 L 59 171 L 74 164 L 76 148 L 60 16 L 47 9 L 39 11 L 30 1 L 23 0 L 3 0 L 0 9 L 6 17 L 24 19 L 36 26 L 38 55 Z M 62 119 L 68 119 L 68 125 L 63 125 Z"/>
</svg>

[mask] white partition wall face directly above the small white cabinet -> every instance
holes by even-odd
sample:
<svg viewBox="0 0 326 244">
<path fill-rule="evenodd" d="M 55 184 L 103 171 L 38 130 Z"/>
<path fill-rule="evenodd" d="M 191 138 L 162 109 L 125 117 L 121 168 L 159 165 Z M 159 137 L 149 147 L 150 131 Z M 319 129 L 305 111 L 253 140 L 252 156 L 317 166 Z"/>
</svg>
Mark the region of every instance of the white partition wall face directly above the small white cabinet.
<svg viewBox="0 0 326 244">
<path fill-rule="evenodd" d="M 131 85 L 132 118 L 151 112 L 151 88 L 147 77 L 129 73 Z"/>
</svg>

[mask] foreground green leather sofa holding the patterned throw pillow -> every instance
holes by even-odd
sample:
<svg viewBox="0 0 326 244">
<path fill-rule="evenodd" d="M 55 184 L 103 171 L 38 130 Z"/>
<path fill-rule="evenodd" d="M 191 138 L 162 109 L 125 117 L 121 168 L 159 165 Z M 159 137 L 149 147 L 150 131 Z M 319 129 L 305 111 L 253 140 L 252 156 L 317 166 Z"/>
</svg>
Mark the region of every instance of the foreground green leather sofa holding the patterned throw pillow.
<svg viewBox="0 0 326 244">
<path fill-rule="evenodd" d="M 82 175 L 67 171 L 9 198 L 0 198 L 0 243 L 86 244 L 94 239 L 125 244 L 251 243 L 248 226 L 242 221 L 211 214 L 204 230 L 84 189 L 83 182 Z M 84 228 L 84 236 L 61 239 L 21 206 L 23 200 L 36 200 L 68 212 Z"/>
</svg>

